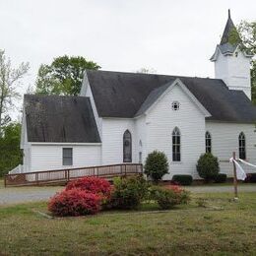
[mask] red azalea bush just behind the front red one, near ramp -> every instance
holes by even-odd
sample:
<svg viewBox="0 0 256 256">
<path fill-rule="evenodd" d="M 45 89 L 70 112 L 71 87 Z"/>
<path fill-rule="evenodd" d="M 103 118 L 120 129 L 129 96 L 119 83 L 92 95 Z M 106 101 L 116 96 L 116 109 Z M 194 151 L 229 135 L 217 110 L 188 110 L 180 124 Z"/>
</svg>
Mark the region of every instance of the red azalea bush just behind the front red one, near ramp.
<svg viewBox="0 0 256 256">
<path fill-rule="evenodd" d="M 99 195 L 102 199 L 107 199 L 110 196 L 111 185 L 104 178 L 85 177 L 70 181 L 66 190 L 81 189 Z"/>
</svg>

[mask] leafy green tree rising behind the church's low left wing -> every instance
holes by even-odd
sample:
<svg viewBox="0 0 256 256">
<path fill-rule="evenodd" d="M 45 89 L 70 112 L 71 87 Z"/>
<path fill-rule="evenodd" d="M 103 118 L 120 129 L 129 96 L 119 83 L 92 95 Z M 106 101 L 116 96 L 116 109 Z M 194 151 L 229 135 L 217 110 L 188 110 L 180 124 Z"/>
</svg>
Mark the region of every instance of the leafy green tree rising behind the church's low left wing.
<svg viewBox="0 0 256 256">
<path fill-rule="evenodd" d="M 84 71 L 99 68 L 95 62 L 87 61 L 81 56 L 57 57 L 50 65 L 42 64 L 39 67 L 35 94 L 77 96 L 80 93 Z"/>
</svg>

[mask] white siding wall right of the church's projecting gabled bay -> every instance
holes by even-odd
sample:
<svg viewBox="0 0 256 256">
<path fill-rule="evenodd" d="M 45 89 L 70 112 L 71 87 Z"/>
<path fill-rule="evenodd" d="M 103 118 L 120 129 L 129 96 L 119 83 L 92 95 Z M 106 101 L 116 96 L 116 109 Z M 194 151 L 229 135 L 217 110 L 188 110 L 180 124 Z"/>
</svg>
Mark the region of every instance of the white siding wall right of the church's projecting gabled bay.
<svg viewBox="0 0 256 256">
<path fill-rule="evenodd" d="M 227 162 L 232 157 L 232 152 L 235 152 L 236 157 L 239 157 L 238 152 L 238 136 L 240 132 L 245 135 L 246 143 L 246 159 L 256 163 L 256 133 L 253 124 L 236 124 L 236 123 L 218 123 L 206 122 L 206 130 L 212 136 L 212 153 L 220 162 L 221 172 L 232 176 L 232 164 Z M 247 172 L 250 172 L 249 167 L 244 166 Z"/>
</svg>

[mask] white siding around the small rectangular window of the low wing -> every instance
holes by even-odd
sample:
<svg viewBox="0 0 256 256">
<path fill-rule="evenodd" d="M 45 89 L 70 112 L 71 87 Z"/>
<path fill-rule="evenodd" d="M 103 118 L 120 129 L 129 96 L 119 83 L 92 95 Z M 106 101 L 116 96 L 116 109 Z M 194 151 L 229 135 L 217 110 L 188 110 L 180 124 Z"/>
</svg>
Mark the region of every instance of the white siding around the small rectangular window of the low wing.
<svg viewBox="0 0 256 256">
<path fill-rule="evenodd" d="M 61 169 L 62 148 L 73 148 L 73 165 L 68 167 L 83 167 L 99 165 L 100 146 L 72 146 L 72 145 L 32 145 L 32 167 L 30 171 Z"/>
</svg>

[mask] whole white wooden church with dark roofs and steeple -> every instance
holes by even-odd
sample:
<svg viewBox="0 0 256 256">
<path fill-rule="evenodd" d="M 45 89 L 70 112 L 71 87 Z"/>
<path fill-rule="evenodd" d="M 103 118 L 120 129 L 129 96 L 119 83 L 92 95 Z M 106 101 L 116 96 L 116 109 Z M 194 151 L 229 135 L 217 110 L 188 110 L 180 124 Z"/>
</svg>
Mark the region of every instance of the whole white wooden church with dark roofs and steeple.
<svg viewBox="0 0 256 256">
<path fill-rule="evenodd" d="M 198 178 L 205 152 L 228 175 L 232 152 L 256 162 L 253 56 L 228 42 L 233 29 L 228 14 L 211 58 L 215 79 L 87 70 L 80 96 L 26 95 L 23 171 L 144 163 L 155 150 L 167 156 L 166 180 Z"/>
</svg>

